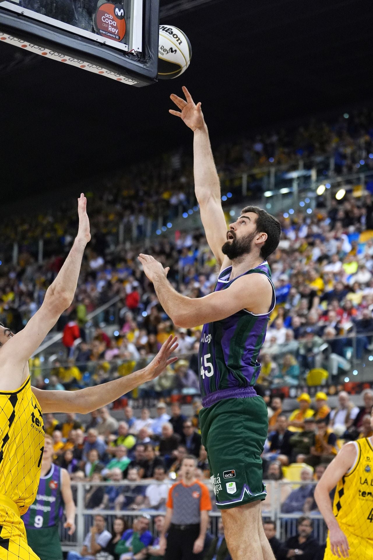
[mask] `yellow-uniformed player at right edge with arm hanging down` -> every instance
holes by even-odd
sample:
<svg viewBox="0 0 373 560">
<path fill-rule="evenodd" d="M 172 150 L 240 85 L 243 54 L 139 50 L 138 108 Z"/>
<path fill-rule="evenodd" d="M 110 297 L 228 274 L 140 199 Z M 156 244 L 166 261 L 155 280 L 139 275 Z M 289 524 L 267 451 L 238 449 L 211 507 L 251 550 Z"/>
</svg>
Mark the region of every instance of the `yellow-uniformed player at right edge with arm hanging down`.
<svg viewBox="0 0 373 560">
<path fill-rule="evenodd" d="M 373 558 L 372 471 L 371 436 L 344 445 L 319 480 L 315 500 L 329 529 L 324 560 Z M 329 493 L 336 486 L 332 506 Z"/>
</svg>

